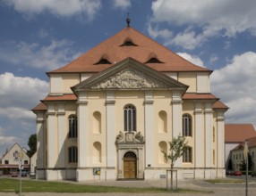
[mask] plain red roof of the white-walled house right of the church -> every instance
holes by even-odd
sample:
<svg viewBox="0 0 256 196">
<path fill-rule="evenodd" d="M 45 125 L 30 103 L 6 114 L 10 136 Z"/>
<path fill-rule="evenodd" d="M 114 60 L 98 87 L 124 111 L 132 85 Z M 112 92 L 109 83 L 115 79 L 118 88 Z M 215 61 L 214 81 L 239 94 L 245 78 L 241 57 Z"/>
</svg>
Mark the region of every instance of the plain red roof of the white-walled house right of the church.
<svg viewBox="0 0 256 196">
<path fill-rule="evenodd" d="M 256 136 L 252 124 L 226 124 L 225 143 L 243 143 L 248 138 Z"/>
</svg>

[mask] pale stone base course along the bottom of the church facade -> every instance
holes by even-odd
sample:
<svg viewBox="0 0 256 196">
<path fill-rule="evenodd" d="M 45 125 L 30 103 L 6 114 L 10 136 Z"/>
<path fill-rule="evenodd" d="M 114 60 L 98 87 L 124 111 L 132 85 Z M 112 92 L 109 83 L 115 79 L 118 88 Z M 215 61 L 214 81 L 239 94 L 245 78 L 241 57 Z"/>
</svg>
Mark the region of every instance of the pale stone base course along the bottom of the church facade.
<svg viewBox="0 0 256 196">
<path fill-rule="evenodd" d="M 144 180 L 159 180 L 170 178 L 169 168 L 145 168 Z M 175 169 L 174 179 L 215 179 L 226 177 L 225 168 L 191 168 Z M 115 168 L 77 168 L 77 169 L 40 169 L 37 170 L 37 179 L 54 180 L 76 180 L 82 181 L 111 181 L 117 180 Z M 143 179 L 143 178 L 138 178 Z"/>
</svg>

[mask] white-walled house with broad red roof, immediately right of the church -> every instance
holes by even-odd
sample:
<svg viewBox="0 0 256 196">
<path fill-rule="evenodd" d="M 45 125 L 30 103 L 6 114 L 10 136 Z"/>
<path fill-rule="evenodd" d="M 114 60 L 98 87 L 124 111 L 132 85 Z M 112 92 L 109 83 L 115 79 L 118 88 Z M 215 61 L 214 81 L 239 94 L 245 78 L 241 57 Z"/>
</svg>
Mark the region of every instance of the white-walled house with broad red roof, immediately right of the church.
<svg viewBox="0 0 256 196">
<path fill-rule="evenodd" d="M 225 149 L 226 149 L 226 169 L 228 169 L 228 162 L 231 159 L 233 149 L 246 139 L 255 137 L 256 132 L 252 124 L 226 124 L 225 125 Z M 239 158 L 239 156 L 238 156 Z M 241 158 L 243 159 L 243 158 Z"/>
</svg>

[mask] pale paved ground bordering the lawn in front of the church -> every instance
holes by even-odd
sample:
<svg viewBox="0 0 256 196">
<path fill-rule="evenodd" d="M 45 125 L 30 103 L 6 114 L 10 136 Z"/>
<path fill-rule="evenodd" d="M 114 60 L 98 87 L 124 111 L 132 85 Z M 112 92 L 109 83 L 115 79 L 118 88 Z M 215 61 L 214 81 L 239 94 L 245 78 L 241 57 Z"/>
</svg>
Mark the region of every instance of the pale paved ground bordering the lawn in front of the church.
<svg viewBox="0 0 256 196">
<path fill-rule="evenodd" d="M 243 177 L 241 177 L 243 178 Z M 255 179 L 255 180 L 254 180 Z M 248 196 L 256 195 L 256 178 L 249 180 Z M 74 183 L 74 182 L 73 182 Z M 86 182 L 86 183 L 75 183 L 75 184 L 90 184 L 90 185 L 106 185 L 106 186 L 123 186 L 123 187 L 161 187 L 166 188 L 166 180 L 158 181 L 108 181 L 108 182 Z M 174 193 L 172 195 L 177 196 L 193 196 L 193 195 L 208 195 L 208 196 L 241 196 L 245 195 L 245 184 L 209 184 L 202 180 L 186 180 L 178 182 L 179 188 L 187 188 L 193 190 L 209 191 L 213 193 Z M 170 193 L 121 193 L 121 192 L 110 192 L 110 193 L 52 193 L 52 192 L 41 192 L 41 193 L 22 193 L 23 196 L 166 196 Z M 0 196 L 17 196 L 15 193 L 0 192 Z"/>
</svg>

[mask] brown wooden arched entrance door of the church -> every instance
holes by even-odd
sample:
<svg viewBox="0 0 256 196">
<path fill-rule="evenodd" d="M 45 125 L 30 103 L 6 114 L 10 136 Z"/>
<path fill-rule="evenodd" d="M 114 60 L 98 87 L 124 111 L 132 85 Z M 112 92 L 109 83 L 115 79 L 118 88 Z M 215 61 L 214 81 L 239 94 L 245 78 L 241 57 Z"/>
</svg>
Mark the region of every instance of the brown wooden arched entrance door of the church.
<svg viewBox="0 0 256 196">
<path fill-rule="evenodd" d="M 124 178 L 137 177 L 137 158 L 136 155 L 129 151 L 124 154 Z"/>
</svg>

